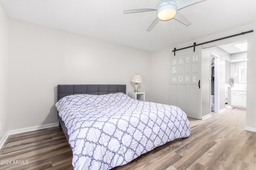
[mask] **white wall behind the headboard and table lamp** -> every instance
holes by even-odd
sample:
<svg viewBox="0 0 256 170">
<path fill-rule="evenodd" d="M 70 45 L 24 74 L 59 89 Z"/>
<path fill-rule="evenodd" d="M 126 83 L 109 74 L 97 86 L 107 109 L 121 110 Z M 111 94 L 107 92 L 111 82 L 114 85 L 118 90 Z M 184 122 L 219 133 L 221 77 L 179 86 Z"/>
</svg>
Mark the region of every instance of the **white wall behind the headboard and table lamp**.
<svg viewBox="0 0 256 170">
<path fill-rule="evenodd" d="M 137 73 L 150 99 L 150 52 L 12 19 L 9 33 L 9 130 L 58 122 L 58 84 L 126 84 L 129 92 Z"/>
</svg>

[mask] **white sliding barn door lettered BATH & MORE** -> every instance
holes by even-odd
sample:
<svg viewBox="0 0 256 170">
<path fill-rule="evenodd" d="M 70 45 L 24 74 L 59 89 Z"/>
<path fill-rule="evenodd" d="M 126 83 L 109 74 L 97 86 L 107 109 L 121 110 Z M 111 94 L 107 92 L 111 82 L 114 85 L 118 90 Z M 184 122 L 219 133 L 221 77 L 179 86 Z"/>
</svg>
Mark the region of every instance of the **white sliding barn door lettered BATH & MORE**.
<svg viewBox="0 0 256 170">
<path fill-rule="evenodd" d="M 178 106 L 188 117 L 202 119 L 202 46 L 172 52 L 170 55 L 170 105 Z"/>
</svg>

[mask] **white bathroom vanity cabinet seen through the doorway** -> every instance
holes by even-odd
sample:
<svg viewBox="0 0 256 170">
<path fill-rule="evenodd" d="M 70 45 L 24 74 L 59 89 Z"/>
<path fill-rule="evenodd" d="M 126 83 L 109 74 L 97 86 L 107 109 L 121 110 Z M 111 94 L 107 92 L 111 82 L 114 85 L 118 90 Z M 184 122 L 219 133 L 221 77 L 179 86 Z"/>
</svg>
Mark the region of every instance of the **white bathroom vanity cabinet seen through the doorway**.
<svg viewBox="0 0 256 170">
<path fill-rule="evenodd" d="M 246 91 L 231 91 L 231 106 L 246 108 Z"/>
</svg>

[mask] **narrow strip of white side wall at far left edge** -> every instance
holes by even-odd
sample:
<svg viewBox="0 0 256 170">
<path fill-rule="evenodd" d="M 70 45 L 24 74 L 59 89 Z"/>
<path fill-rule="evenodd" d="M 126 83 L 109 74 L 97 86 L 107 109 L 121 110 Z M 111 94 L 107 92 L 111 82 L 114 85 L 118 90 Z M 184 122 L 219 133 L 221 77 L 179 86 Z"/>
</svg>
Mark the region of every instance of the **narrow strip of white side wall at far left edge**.
<svg viewBox="0 0 256 170">
<path fill-rule="evenodd" d="M 7 132 L 8 116 L 8 17 L 0 4 L 0 141 Z"/>
</svg>

